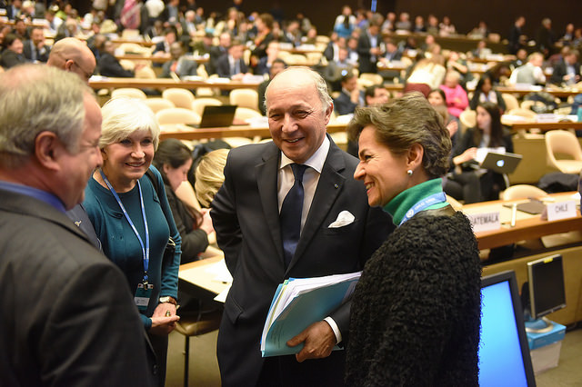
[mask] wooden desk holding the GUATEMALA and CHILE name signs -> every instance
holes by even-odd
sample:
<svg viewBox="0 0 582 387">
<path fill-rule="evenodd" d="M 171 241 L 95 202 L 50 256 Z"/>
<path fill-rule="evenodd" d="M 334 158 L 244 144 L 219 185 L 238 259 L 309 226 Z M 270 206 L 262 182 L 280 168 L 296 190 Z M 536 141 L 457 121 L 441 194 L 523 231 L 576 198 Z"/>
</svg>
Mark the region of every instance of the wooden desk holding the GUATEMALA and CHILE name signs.
<svg viewBox="0 0 582 387">
<path fill-rule="evenodd" d="M 575 200 L 574 193 L 555 193 L 550 195 L 557 202 Z M 492 249 L 505 246 L 507 244 L 524 241 L 527 239 L 537 239 L 542 236 L 555 233 L 567 233 L 570 231 L 582 230 L 582 216 L 578 212 L 577 217 L 562 219 L 559 221 L 542 221 L 541 215 L 531 215 L 517 211 L 517 220 L 514 227 L 510 227 L 511 208 L 504 207 L 504 203 L 523 203 L 524 200 L 494 201 L 484 203 L 473 203 L 463 206 L 464 213 L 487 213 L 499 211 L 501 228 L 495 231 L 476 233 L 479 250 Z"/>
</svg>

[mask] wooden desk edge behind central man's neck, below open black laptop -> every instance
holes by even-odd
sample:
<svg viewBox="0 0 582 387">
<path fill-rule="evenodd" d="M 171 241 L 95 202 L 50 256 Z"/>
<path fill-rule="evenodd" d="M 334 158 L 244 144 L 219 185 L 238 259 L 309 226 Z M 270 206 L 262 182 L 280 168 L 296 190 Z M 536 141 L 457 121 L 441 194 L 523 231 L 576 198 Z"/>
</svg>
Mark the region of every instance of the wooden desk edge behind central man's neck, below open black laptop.
<svg viewBox="0 0 582 387">
<path fill-rule="evenodd" d="M 184 126 L 184 131 L 176 132 L 162 132 L 160 140 L 166 138 L 177 138 L 178 140 L 201 140 L 206 138 L 224 138 L 224 137 L 248 137 L 254 138 L 256 136 L 262 138 L 270 138 L 271 133 L 268 127 L 254 128 L 247 125 L 230 126 L 226 128 L 188 128 Z M 328 124 L 327 133 L 337 133 L 346 131 L 345 124 Z"/>
</svg>

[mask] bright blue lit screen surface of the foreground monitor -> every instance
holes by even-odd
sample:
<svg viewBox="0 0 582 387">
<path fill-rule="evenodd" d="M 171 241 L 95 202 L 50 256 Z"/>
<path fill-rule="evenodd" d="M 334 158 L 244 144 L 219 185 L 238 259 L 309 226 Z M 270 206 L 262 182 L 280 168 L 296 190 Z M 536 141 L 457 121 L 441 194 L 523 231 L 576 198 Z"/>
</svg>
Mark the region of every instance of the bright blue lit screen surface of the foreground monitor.
<svg viewBox="0 0 582 387">
<path fill-rule="evenodd" d="M 480 386 L 527 386 L 509 282 L 481 289 Z"/>
</svg>

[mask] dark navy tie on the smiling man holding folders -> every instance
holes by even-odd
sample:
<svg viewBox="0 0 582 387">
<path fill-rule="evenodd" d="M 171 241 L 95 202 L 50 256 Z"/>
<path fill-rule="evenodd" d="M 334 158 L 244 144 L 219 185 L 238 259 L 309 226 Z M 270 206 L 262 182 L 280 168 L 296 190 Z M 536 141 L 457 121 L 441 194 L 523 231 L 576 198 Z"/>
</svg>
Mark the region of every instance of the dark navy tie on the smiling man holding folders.
<svg viewBox="0 0 582 387">
<path fill-rule="evenodd" d="M 304 196 L 303 174 L 306 172 L 307 165 L 291 164 L 291 168 L 295 176 L 295 183 L 286 194 L 279 214 L 286 267 L 291 263 L 301 234 L 301 213 L 303 212 Z"/>
</svg>

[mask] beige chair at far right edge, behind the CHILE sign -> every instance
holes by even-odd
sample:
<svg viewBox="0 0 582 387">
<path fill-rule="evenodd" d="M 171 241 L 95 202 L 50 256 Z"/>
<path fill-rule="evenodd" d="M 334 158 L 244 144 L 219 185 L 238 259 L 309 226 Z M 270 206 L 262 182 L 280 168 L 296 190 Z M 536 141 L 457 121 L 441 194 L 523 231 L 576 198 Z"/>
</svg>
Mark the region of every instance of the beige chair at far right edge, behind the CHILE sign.
<svg viewBox="0 0 582 387">
<path fill-rule="evenodd" d="M 582 149 L 576 134 L 566 130 L 546 133 L 547 164 L 564 174 L 579 174 L 582 170 Z M 568 158 L 558 158 L 558 156 Z"/>
</svg>

